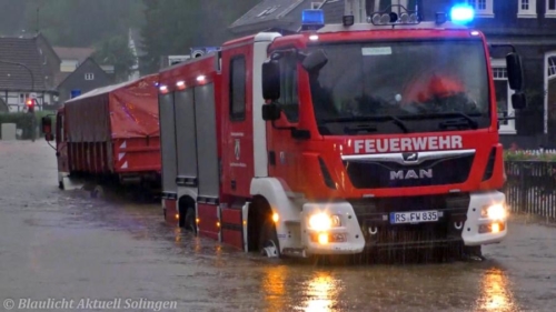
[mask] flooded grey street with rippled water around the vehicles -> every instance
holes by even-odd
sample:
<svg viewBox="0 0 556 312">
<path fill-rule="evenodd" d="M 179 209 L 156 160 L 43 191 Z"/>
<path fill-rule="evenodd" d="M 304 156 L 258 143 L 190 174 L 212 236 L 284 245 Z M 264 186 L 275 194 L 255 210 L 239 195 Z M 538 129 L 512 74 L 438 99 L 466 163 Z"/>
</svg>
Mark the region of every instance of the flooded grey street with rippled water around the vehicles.
<svg viewBox="0 0 556 312">
<path fill-rule="evenodd" d="M 555 310 L 556 228 L 524 218 L 484 262 L 316 265 L 180 233 L 156 203 L 60 191 L 43 141 L 0 142 L 0 311 Z"/>
</svg>

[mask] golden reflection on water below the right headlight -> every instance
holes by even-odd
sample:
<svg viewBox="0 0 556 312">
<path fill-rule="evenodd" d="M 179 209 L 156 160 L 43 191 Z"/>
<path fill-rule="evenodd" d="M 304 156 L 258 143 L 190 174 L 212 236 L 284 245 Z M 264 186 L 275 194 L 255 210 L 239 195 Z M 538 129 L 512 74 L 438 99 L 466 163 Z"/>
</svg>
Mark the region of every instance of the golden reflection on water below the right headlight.
<svg viewBox="0 0 556 312">
<path fill-rule="evenodd" d="M 493 268 L 483 275 L 480 296 L 477 301 L 480 311 L 518 311 L 510 290 L 508 276 Z"/>
</svg>

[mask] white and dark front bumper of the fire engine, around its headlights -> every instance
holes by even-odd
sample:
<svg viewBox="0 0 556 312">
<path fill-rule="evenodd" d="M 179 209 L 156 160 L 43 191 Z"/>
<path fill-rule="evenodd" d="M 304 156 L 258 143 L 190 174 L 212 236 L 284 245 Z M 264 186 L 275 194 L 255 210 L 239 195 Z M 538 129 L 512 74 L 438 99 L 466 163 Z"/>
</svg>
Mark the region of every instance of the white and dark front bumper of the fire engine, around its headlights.
<svg viewBox="0 0 556 312">
<path fill-rule="evenodd" d="M 471 193 L 433 199 L 421 201 L 420 207 L 418 203 L 391 204 L 391 199 L 383 199 L 389 203 L 386 205 L 377 204 L 379 200 L 306 203 L 301 221 L 304 246 L 308 254 L 354 254 L 366 249 L 433 248 L 460 242 L 469 246 L 483 245 L 498 243 L 507 235 L 505 219 L 490 220 L 481 217 L 484 207 L 505 205 L 504 193 Z M 385 207 L 389 209 L 386 210 Z M 441 217 L 437 222 L 390 224 L 389 212 L 408 209 L 437 210 Z M 316 213 L 337 215 L 340 225 L 328 230 L 311 229 L 309 218 Z M 497 223 L 497 232 L 492 232 L 494 222 Z M 319 235 L 327 235 L 325 243 L 320 242 Z"/>
</svg>

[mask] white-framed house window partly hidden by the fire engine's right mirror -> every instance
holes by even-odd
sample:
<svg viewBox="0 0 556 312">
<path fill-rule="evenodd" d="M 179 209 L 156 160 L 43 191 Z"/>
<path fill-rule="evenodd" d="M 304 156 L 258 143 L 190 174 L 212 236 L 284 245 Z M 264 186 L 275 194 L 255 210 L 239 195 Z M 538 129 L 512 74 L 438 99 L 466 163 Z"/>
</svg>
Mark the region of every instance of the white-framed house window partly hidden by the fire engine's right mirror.
<svg viewBox="0 0 556 312">
<path fill-rule="evenodd" d="M 512 108 L 512 94 L 514 91 L 509 89 L 508 71 L 504 59 L 493 60 L 493 78 L 496 92 L 496 107 L 498 109 L 498 118 L 513 118 L 514 109 Z M 515 120 L 500 120 L 500 133 L 516 133 Z"/>
</svg>

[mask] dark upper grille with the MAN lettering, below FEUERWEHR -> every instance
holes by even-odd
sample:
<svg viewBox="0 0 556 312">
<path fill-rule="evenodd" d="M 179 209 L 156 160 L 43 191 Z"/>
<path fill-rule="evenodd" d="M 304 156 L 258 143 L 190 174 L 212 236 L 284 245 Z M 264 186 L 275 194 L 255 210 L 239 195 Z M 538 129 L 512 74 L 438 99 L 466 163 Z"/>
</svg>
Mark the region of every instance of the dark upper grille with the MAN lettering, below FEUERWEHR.
<svg viewBox="0 0 556 312">
<path fill-rule="evenodd" d="M 475 154 L 431 159 L 405 164 L 387 159 L 344 160 L 356 189 L 410 188 L 444 185 L 467 181 Z"/>
</svg>

